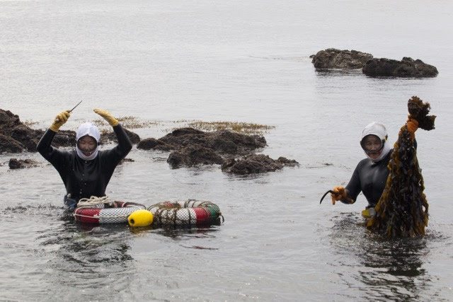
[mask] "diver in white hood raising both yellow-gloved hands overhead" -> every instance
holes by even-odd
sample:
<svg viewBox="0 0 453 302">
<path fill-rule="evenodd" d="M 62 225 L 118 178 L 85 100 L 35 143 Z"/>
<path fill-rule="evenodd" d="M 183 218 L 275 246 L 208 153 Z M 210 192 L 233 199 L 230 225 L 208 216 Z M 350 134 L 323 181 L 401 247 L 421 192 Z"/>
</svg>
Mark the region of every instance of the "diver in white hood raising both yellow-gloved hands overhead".
<svg viewBox="0 0 453 302">
<path fill-rule="evenodd" d="M 101 134 L 98 127 L 91 122 L 81 124 L 77 129 L 74 151 L 62 151 L 52 147 L 52 139 L 71 115 L 69 110 L 57 115 L 37 146 L 38 152 L 52 163 L 61 176 L 67 192 L 64 196 L 64 204 L 70 210 L 76 208 L 81 198 L 105 196 L 105 188 L 113 171 L 132 149 L 132 143 L 125 130 L 115 117 L 110 115 L 110 112 L 101 109 L 95 109 L 94 112 L 101 115 L 113 127 L 118 140 L 115 148 L 99 150 Z"/>
</svg>

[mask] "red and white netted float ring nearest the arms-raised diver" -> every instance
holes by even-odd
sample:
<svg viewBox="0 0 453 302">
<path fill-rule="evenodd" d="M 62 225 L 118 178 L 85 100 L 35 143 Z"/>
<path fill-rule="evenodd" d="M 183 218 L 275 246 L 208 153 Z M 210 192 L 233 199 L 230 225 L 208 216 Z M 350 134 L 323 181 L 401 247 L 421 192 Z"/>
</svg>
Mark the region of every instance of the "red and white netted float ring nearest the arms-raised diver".
<svg viewBox="0 0 453 302">
<path fill-rule="evenodd" d="M 135 202 L 112 201 L 108 197 L 91 197 L 79 201 L 74 218 L 83 223 L 127 223 L 127 217 L 139 209 L 146 207 Z"/>
</svg>

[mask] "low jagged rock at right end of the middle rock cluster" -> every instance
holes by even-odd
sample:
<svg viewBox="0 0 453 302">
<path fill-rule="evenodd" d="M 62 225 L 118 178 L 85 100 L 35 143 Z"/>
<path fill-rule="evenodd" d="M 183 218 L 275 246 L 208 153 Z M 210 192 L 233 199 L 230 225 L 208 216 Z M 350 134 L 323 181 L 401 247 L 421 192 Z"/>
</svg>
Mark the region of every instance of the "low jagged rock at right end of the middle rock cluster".
<svg viewBox="0 0 453 302">
<path fill-rule="evenodd" d="M 285 166 L 299 165 L 297 161 L 280 157 L 277 161 L 264 154 L 251 154 L 235 160 L 228 158 L 222 163 L 222 171 L 239 175 L 272 172 Z"/>
</svg>

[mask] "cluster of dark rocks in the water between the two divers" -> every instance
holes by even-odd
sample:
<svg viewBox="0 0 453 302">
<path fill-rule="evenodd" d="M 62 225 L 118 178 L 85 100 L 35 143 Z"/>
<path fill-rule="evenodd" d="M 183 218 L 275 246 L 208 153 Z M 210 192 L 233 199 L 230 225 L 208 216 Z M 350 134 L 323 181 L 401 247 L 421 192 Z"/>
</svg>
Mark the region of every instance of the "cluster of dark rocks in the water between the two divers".
<svg viewBox="0 0 453 302">
<path fill-rule="evenodd" d="M 280 170 L 288 165 L 298 165 L 280 157 L 277 161 L 263 154 L 247 155 L 266 146 L 264 137 L 219 130 L 203 132 L 193 128 L 180 128 L 160 139 L 143 139 L 137 149 L 172 151 L 167 162 L 172 168 L 196 165 L 222 165 L 222 170 L 241 175 Z"/>
</svg>

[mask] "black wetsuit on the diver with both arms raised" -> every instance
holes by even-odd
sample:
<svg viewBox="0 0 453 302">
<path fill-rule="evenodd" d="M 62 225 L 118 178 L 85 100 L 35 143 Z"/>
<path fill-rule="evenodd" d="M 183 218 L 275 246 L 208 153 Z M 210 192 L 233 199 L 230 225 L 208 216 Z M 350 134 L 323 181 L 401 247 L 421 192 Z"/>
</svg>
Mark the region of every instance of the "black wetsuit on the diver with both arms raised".
<svg viewBox="0 0 453 302">
<path fill-rule="evenodd" d="M 52 147 L 52 139 L 56 132 L 50 129 L 47 129 L 38 143 L 38 152 L 57 169 L 67 194 L 70 194 L 70 198 L 76 202 L 81 198 L 105 196 L 105 188 L 113 171 L 132 149 L 130 139 L 120 124 L 113 127 L 113 131 L 118 139 L 117 146 L 110 150 L 98 151 L 98 156 L 92 161 L 80 158 L 75 150 L 62 151 Z"/>
</svg>

